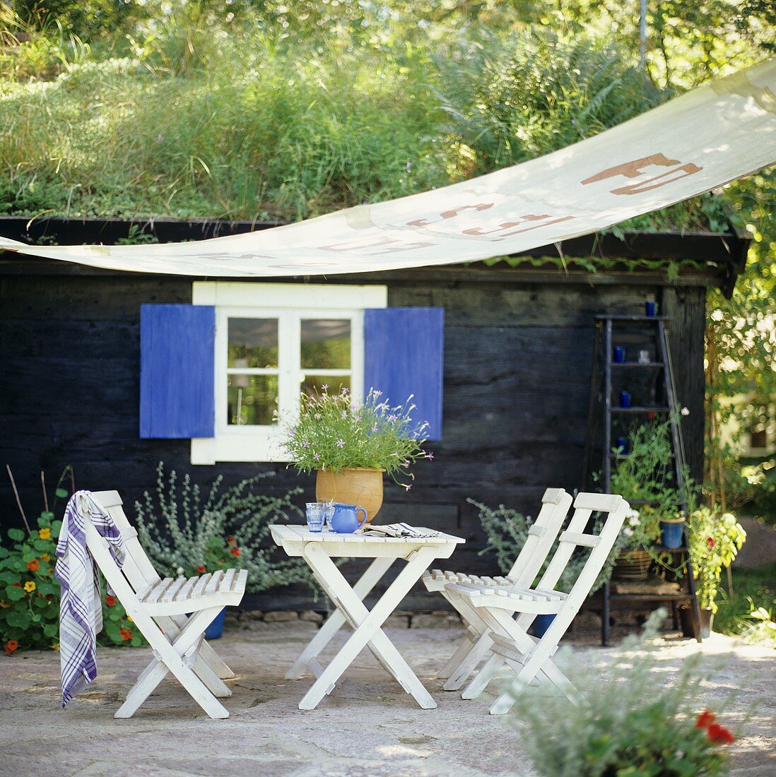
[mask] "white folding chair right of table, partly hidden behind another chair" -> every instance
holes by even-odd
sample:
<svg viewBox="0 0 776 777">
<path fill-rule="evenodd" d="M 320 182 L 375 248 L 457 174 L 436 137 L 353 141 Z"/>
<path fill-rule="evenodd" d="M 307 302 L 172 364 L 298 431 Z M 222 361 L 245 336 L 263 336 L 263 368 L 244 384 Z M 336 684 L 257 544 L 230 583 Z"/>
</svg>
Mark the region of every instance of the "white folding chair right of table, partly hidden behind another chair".
<svg viewBox="0 0 776 777">
<path fill-rule="evenodd" d="M 477 665 L 488 656 L 492 644 L 490 629 L 477 609 L 471 607 L 464 598 L 451 597 L 448 592 L 449 585 L 473 583 L 505 587 L 505 590 L 509 590 L 510 587 L 530 587 L 544 559 L 551 551 L 558 532 L 561 531 L 571 504 L 572 497 L 563 489 L 548 488 L 544 492 L 537 519 L 529 528 L 526 543 L 520 549 L 519 556 L 506 577 L 478 577 L 463 572 L 442 572 L 441 570 L 430 570 L 425 573 L 423 582 L 428 591 L 439 591 L 456 608 L 466 626 L 463 640 L 438 674 L 440 678 L 446 678 L 443 686 L 446 691 L 460 689 Z"/>
</svg>

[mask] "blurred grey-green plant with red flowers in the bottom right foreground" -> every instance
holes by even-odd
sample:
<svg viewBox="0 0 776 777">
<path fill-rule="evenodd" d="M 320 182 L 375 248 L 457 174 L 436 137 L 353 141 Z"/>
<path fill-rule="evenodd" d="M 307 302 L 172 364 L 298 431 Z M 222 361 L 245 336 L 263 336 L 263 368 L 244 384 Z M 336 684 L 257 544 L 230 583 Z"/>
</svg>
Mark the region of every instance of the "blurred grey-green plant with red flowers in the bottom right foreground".
<svg viewBox="0 0 776 777">
<path fill-rule="evenodd" d="M 655 611 L 644 636 L 628 637 L 617 660 L 602 670 L 574 661 L 583 701 L 569 714 L 560 693 L 526 688 L 513 720 L 540 775 L 546 777 L 694 777 L 727 771 L 726 744 L 735 737 L 700 703 L 708 670 L 696 653 L 683 660 L 677 677 L 655 682 L 660 671 L 655 636 L 666 611 Z M 565 652 L 565 651 L 564 651 Z M 568 657 L 566 657 L 568 660 Z M 561 666 L 563 653 L 558 655 Z"/>
</svg>

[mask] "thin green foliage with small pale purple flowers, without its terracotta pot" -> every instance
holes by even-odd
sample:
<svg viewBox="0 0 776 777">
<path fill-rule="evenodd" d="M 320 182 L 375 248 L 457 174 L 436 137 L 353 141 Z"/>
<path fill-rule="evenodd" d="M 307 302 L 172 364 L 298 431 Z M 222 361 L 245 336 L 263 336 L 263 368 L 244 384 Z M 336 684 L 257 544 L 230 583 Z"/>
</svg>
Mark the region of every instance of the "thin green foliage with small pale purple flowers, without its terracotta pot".
<svg viewBox="0 0 776 777">
<path fill-rule="evenodd" d="M 433 458 L 423 450 L 428 423 L 411 418 L 411 396 L 392 407 L 374 389 L 358 403 L 348 389 L 335 394 L 326 388 L 321 394 L 302 394 L 299 418 L 285 427 L 282 446 L 299 472 L 384 469 L 399 482 L 400 477 L 414 478 L 408 472 L 413 462 Z"/>
</svg>

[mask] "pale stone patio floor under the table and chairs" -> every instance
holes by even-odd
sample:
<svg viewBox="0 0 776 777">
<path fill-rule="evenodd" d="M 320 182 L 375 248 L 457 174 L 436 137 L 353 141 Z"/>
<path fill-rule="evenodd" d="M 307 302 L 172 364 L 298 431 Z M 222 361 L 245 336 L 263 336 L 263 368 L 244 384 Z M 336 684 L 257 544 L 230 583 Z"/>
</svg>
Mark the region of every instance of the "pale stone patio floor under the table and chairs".
<svg viewBox="0 0 776 777">
<path fill-rule="evenodd" d="M 386 629 L 439 703 L 422 710 L 368 652 L 362 653 L 318 709 L 297 705 L 309 678 L 288 681 L 285 669 L 313 635 L 311 622 L 249 622 L 214 643 L 236 671 L 225 700 L 229 720 L 210 720 L 169 678 L 131 720 L 114 720 L 122 695 L 149 660 L 145 649 L 100 649 L 99 677 L 66 711 L 58 707 L 56 653 L 0 657 L 2 775 L 533 775 L 519 733 L 488 715 L 488 699 L 465 702 L 442 691 L 435 669 L 453 652 L 460 630 Z M 586 641 L 586 643 L 585 643 Z M 575 640 L 585 662 L 613 660 L 595 636 Z M 331 646 L 330 646 L 331 648 Z M 733 690 L 725 713 L 744 736 L 732 746 L 734 775 L 776 775 L 776 652 L 714 635 L 697 645 L 666 638 L 668 674 L 702 650 L 725 668 L 704 682 L 704 703 Z M 666 674 L 661 674 L 665 678 Z M 662 680 L 660 680 L 662 681 Z M 569 709 L 572 713 L 572 708 Z"/>
</svg>

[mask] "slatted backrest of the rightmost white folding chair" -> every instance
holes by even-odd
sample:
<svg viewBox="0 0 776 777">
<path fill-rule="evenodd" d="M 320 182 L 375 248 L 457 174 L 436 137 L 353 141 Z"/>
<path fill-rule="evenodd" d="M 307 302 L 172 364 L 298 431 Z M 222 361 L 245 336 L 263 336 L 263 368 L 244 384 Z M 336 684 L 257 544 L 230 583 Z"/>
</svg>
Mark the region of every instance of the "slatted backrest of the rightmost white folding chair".
<svg viewBox="0 0 776 777">
<path fill-rule="evenodd" d="M 566 598 L 564 614 L 571 615 L 568 622 L 571 622 L 576 612 L 579 611 L 582 602 L 585 601 L 592 588 L 592 584 L 596 582 L 596 577 L 606 563 L 606 559 L 617 541 L 617 536 L 620 534 L 625 514 L 631 509 L 631 506 L 622 497 L 610 493 L 579 493 L 574 500 L 574 507 L 572 520 L 569 522 L 568 528 L 561 531 L 561 536 L 558 538 L 558 549 L 537 585 L 537 588 L 544 591 L 554 590 L 575 549 L 580 546 L 592 548 L 584 566 L 582 566 L 579 577 L 575 580 L 572 590 Z M 594 512 L 606 514 L 597 535 L 585 533 L 585 528 Z"/>
</svg>

